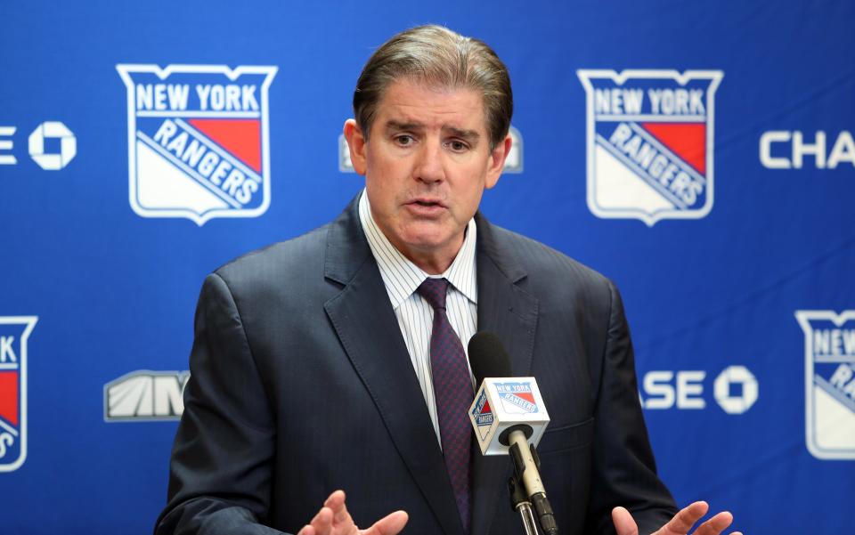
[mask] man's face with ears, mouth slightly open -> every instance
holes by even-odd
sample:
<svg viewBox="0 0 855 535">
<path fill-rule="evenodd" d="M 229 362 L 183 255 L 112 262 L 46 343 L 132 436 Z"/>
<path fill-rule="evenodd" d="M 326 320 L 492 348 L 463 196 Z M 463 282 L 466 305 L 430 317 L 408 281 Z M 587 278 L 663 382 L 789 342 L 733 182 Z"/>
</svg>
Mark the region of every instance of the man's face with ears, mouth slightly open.
<svg viewBox="0 0 855 535">
<path fill-rule="evenodd" d="M 481 95 L 397 80 L 379 102 L 369 140 L 353 119 L 345 135 L 380 230 L 425 271 L 444 272 L 510 149 L 507 138 L 490 150 Z"/>
</svg>

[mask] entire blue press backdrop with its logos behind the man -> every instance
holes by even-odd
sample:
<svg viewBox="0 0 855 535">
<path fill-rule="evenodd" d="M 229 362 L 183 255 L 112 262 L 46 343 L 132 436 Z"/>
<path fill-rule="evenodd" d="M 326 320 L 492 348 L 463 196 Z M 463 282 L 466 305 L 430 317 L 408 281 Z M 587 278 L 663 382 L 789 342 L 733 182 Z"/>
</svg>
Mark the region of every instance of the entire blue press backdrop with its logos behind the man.
<svg viewBox="0 0 855 535">
<path fill-rule="evenodd" d="M 4 4 L 0 532 L 151 531 L 201 281 L 338 215 L 356 77 L 426 22 L 508 64 L 520 151 L 483 212 L 621 288 L 679 503 L 851 531 L 853 21 L 844 0 Z"/>
</svg>

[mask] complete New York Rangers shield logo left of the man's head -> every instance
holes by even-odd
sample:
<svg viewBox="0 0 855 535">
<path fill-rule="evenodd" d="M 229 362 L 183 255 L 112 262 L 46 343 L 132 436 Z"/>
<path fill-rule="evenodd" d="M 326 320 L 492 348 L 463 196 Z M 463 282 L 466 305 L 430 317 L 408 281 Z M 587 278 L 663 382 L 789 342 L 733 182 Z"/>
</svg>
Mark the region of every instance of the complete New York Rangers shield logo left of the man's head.
<svg viewBox="0 0 855 535">
<path fill-rule="evenodd" d="M 142 217 L 256 217 L 270 205 L 267 89 L 276 67 L 117 65 L 129 199 Z"/>
</svg>

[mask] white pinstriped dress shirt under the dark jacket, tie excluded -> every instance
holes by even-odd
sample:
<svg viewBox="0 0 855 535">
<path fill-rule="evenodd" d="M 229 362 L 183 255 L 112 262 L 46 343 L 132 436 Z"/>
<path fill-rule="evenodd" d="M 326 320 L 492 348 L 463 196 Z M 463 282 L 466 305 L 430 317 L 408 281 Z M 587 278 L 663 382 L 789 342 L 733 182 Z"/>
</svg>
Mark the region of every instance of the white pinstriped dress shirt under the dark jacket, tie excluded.
<svg viewBox="0 0 855 535">
<path fill-rule="evenodd" d="M 442 448 L 439 420 L 436 417 L 434 383 L 430 373 L 430 332 L 433 328 L 434 309 L 424 297 L 419 296 L 416 288 L 419 288 L 422 281 L 428 277 L 444 278 L 451 282 L 445 302 L 446 314 L 454 332 L 460 338 L 463 351 L 467 352 L 468 365 L 467 345 L 469 338 L 475 334 L 478 323 L 475 220 L 469 220 L 463 246 L 460 247 L 448 270 L 440 275 L 429 275 L 407 259 L 380 231 L 371 215 L 371 204 L 365 190 L 362 190 L 362 197 L 359 199 L 359 219 L 362 223 L 362 231 L 365 231 L 365 237 L 371 247 L 371 253 L 377 261 L 389 301 L 392 302 L 392 308 L 395 310 L 395 318 L 398 320 L 404 344 L 407 345 L 407 351 L 410 353 L 421 393 L 424 394 L 425 402 L 428 404 L 436 439 L 440 441 L 440 448 Z M 469 369 L 469 375 L 471 374 L 472 370 Z"/>
</svg>

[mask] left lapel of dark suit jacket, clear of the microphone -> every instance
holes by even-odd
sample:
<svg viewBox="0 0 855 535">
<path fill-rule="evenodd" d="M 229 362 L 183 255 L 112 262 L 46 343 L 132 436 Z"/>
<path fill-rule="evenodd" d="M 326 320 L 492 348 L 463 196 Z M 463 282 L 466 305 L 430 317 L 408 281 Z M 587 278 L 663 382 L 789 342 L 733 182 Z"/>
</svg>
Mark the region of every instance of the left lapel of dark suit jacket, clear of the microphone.
<svg viewBox="0 0 855 535">
<path fill-rule="evenodd" d="M 362 234 L 355 202 L 330 226 L 325 274 L 345 285 L 324 309 L 371 393 L 395 449 L 444 532 L 462 535 L 434 426 L 377 263 Z"/>
</svg>

